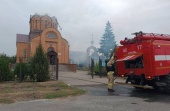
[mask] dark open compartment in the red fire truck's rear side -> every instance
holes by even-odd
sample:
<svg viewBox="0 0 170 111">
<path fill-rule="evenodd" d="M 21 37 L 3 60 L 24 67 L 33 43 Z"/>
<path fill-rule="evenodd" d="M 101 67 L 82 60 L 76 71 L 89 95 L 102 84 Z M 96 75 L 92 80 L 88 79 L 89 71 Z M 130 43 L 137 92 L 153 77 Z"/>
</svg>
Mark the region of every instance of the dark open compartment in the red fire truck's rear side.
<svg viewBox="0 0 170 111">
<path fill-rule="evenodd" d="M 143 68 L 143 57 L 140 56 L 134 60 L 124 61 L 126 69 Z"/>
</svg>

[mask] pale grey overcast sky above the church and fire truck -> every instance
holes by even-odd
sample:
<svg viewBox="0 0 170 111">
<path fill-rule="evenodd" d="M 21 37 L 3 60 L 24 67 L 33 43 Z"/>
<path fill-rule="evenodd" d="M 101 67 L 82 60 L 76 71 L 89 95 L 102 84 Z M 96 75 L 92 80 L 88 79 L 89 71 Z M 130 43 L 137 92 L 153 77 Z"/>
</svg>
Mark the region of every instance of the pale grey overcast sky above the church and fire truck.
<svg viewBox="0 0 170 111">
<path fill-rule="evenodd" d="M 170 0 L 0 0 L 0 53 L 16 54 L 16 34 L 29 34 L 30 15 L 55 16 L 71 51 L 86 51 L 110 21 L 117 44 L 137 31 L 170 34 Z"/>
</svg>

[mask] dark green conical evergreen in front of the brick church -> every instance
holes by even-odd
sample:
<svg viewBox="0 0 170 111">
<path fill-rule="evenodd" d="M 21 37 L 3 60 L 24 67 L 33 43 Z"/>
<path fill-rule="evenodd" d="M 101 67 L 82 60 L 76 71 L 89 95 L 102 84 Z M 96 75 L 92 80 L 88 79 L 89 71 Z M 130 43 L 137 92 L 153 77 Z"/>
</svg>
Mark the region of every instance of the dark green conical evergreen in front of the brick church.
<svg viewBox="0 0 170 111">
<path fill-rule="evenodd" d="M 30 78 L 37 82 L 43 82 L 49 79 L 49 64 L 42 45 L 37 47 L 35 55 L 31 58 Z"/>
</svg>

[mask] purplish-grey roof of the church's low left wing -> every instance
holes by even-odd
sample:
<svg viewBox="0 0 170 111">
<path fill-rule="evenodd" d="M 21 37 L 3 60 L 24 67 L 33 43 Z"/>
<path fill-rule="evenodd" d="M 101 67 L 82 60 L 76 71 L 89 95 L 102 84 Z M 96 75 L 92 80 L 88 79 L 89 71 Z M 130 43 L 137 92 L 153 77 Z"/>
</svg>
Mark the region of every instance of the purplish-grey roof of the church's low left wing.
<svg viewBox="0 0 170 111">
<path fill-rule="evenodd" d="M 30 42 L 29 35 L 17 34 L 16 42 Z"/>
</svg>

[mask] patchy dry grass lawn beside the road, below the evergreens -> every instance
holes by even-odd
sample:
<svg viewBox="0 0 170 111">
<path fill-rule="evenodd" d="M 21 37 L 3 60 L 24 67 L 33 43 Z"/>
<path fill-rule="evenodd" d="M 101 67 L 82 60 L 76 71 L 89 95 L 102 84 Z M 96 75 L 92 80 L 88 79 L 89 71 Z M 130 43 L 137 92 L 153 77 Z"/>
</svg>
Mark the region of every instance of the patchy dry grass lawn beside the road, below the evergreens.
<svg viewBox="0 0 170 111">
<path fill-rule="evenodd" d="M 59 81 L 0 83 L 0 104 L 36 99 L 53 99 L 86 93 Z"/>
</svg>

